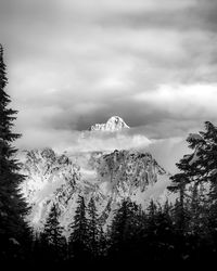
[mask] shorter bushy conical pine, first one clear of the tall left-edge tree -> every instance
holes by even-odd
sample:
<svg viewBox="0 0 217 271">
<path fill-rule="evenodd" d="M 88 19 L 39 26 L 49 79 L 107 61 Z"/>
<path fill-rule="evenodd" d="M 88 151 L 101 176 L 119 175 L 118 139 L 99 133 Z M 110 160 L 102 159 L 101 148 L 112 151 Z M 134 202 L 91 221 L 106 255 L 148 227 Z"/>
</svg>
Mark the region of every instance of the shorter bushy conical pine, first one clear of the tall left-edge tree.
<svg viewBox="0 0 217 271">
<path fill-rule="evenodd" d="M 63 228 L 59 222 L 58 207 L 54 204 L 44 224 L 42 242 L 46 242 L 49 258 L 54 261 L 63 260 L 66 241 L 63 236 Z"/>
</svg>

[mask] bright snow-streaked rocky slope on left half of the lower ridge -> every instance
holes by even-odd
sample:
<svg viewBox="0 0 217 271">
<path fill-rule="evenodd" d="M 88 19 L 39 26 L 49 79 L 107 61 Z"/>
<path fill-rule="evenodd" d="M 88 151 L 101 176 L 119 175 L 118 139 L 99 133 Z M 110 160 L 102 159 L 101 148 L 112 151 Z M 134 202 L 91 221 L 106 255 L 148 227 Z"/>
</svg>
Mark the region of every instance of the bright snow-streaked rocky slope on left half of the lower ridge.
<svg viewBox="0 0 217 271">
<path fill-rule="evenodd" d="M 53 202 L 64 209 L 80 178 L 79 167 L 66 155 L 59 156 L 51 149 L 25 153 L 22 171 L 26 179 L 21 184 L 21 191 L 31 207 L 28 216 L 30 224 L 40 228 Z"/>
</svg>

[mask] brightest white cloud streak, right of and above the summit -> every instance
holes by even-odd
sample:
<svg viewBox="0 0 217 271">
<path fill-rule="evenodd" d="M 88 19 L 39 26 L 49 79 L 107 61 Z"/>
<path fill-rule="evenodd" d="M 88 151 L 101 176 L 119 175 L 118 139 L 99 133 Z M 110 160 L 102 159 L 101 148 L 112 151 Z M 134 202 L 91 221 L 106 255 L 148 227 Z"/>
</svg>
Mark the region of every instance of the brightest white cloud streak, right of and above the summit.
<svg viewBox="0 0 217 271">
<path fill-rule="evenodd" d="M 182 119 L 213 118 L 217 115 L 217 85 L 159 86 L 135 99 Z"/>
</svg>

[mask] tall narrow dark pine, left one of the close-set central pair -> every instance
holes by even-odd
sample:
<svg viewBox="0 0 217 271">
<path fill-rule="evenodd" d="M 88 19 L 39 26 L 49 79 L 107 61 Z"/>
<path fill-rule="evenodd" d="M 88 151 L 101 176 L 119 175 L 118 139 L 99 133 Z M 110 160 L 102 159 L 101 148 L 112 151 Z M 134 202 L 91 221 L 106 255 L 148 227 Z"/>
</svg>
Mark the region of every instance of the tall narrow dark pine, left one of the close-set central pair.
<svg viewBox="0 0 217 271">
<path fill-rule="evenodd" d="M 86 218 L 85 198 L 78 196 L 77 209 L 74 221 L 71 224 L 72 233 L 69 236 L 69 254 L 75 260 L 89 258 L 88 254 L 88 220 Z"/>
</svg>

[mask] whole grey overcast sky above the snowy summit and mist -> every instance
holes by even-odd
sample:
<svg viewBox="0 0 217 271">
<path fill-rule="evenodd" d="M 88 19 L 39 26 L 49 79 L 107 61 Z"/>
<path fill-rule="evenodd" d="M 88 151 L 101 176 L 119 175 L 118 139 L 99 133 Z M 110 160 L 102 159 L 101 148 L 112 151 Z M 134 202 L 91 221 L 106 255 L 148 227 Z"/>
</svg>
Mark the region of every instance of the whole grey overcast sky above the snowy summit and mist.
<svg viewBox="0 0 217 271">
<path fill-rule="evenodd" d="M 216 0 L 0 0 L 23 142 L 119 115 L 149 138 L 217 124 Z"/>
</svg>

